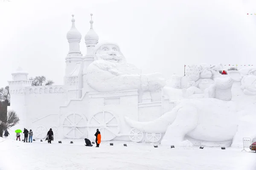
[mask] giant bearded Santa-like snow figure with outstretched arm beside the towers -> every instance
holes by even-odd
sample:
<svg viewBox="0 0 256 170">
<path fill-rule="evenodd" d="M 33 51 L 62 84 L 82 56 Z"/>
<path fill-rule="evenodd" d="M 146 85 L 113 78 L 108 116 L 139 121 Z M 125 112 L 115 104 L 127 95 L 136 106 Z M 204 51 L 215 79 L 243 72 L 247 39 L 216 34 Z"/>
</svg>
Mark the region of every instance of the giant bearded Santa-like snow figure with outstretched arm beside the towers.
<svg viewBox="0 0 256 170">
<path fill-rule="evenodd" d="M 113 43 L 95 46 L 94 62 L 87 68 L 87 83 L 96 91 L 111 92 L 138 89 L 158 91 L 165 85 L 162 74 L 141 74 L 125 61 L 118 45 Z"/>
</svg>

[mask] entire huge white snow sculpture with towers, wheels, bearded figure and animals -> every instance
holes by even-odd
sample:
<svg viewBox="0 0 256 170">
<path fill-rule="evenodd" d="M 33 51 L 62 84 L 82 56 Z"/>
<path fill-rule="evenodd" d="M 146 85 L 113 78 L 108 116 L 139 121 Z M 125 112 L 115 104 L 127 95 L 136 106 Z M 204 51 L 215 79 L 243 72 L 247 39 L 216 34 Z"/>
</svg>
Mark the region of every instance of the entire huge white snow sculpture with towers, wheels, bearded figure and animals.
<svg viewBox="0 0 256 170">
<path fill-rule="evenodd" d="M 127 63 L 118 45 L 99 44 L 93 20 L 83 56 L 71 21 L 64 85 L 31 86 L 26 71 L 12 74 L 9 109 L 20 116 L 14 129 L 31 128 L 38 139 L 52 128 L 58 138 L 93 140 L 98 128 L 102 141 L 176 145 L 239 146 L 245 133 L 256 137 L 250 130 L 255 68 L 221 75 L 222 65 L 195 65 L 186 77 L 166 82 L 160 73 L 142 74 Z"/>
</svg>

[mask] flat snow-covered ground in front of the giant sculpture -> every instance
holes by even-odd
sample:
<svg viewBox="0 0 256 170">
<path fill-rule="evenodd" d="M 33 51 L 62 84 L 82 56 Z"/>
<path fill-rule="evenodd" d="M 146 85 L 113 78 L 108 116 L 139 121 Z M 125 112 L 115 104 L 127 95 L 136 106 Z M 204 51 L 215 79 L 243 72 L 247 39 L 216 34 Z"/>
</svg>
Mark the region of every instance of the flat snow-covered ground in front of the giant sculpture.
<svg viewBox="0 0 256 170">
<path fill-rule="evenodd" d="M 97 148 L 83 139 L 48 144 L 0 138 L 0 170 L 255 170 L 256 153 L 241 148 L 154 148 L 149 143 L 112 141 Z M 128 147 L 124 147 L 126 143 Z"/>
</svg>

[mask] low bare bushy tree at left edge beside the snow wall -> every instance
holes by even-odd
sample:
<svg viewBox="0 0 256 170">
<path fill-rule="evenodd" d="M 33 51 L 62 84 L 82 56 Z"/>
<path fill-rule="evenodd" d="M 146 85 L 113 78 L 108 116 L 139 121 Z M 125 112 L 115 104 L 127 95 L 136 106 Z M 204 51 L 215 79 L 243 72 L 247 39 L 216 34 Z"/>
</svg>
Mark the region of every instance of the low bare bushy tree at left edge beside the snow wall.
<svg viewBox="0 0 256 170">
<path fill-rule="evenodd" d="M 0 136 L 3 136 L 3 131 L 17 125 L 20 122 L 15 111 L 8 111 L 7 119 L 0 115 Z"/>
</svg>

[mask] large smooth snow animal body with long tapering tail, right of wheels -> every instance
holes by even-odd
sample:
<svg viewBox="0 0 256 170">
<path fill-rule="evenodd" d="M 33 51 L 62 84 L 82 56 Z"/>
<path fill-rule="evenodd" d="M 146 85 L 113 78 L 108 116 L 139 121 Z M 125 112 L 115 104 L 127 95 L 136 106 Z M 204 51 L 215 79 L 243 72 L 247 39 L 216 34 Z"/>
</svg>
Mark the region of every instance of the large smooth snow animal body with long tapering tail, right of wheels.
<svg viewBox="0 0 256 170">
<path fill-rule="evenodd" d="M 207 142 L 224 142 L 236 135 L 238 116 L 232 101 L 185 99 L 172 111 L 150 122 L 136 122 L 131 127 L 147 133 L 165 133 L 161 144 L 183 146 L 185 136 Z"/>
</svg>

